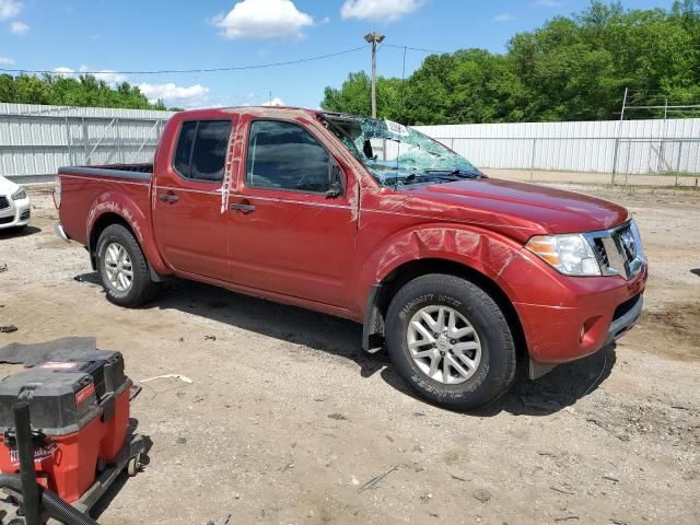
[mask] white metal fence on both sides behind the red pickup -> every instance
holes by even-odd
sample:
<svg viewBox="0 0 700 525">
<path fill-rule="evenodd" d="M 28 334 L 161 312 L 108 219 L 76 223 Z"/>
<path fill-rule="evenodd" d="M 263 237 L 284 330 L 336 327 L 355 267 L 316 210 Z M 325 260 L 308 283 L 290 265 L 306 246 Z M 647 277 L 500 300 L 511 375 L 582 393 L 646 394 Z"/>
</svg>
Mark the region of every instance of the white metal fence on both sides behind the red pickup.
<svg viewBox="0 0 700 525">
<path fill-rule="evenodd" d="M 62 165 L 151 162 L 172 115 L 0 103 L 0 175 L 37 180 Z M 700 118 L 418 129 L 481 167 L 700 174 Z M 387 153 L 393 148 L 387 144 Z"/>
</svg>

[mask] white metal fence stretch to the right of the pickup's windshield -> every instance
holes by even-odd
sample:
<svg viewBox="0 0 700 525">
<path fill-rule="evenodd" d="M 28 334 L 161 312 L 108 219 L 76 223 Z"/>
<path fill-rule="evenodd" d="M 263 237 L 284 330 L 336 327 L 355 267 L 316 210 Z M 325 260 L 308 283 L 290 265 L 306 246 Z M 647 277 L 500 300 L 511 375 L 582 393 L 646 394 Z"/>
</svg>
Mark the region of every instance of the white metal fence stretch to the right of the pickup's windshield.
<svg viewBox="0 0 700 525">
<path fill-rule="evenodd" d="M 477 166 L 700 173 L 700 118 L 418 126 Z"/>
</svg>

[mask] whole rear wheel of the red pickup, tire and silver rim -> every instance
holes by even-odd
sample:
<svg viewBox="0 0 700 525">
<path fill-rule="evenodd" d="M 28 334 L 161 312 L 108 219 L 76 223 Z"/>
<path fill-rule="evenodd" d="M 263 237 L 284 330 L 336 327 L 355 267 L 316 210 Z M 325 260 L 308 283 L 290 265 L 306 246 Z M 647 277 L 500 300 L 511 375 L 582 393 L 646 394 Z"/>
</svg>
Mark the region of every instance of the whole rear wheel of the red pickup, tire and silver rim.
<svg viewBox="0 0 700 525">
<path fill-rule="evenodd" d="M 97 241 L 97 267 L 107 299 L 135 307 L 152 299 L 155 283 L 139 243 L 120 224 L 107 226 Z"/>
</svg>

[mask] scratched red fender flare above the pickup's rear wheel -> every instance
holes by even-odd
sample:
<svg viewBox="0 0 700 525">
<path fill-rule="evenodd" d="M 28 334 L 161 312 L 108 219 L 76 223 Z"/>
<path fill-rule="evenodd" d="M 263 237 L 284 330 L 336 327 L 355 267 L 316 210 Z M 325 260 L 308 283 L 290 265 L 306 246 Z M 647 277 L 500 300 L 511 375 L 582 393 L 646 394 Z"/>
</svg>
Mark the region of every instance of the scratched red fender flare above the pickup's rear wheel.
<svg viewBox="0 0 700 525">
<path fill-rule="evenodd" d="M 147 200 L 145 206 L 149 205 Z M 147 208 L 148 209 L 148 208 Z M 139 206 L 131 197 L 119 191 L 105 191 L 100 194 L 90 206 L 88 212 L 86 238 L 92 238 L 91 233 L 101 218 L 105 214 L 116 214 L 124 219 L 133 231 L 136 238 L 143 250 L 145 259 L 158 273 L 170 273 L 170 269 L 161 258 L 155 243 L 153 229 L 151 228 L 150 215 L 143 212 L 143 207 Z M 92 254 L 95 246 L 90 245 Z"/>
</svg>

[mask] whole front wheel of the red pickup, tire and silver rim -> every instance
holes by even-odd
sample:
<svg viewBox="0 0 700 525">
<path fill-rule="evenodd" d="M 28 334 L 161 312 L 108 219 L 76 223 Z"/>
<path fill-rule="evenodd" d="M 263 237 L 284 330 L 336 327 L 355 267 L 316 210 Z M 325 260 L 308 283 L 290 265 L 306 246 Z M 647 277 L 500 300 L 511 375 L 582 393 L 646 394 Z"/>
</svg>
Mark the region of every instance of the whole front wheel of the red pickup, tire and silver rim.
<svg viewBox="0 0 700 525">
<path fill-rule="evenodd" d="M 387 312 L 386 343 L 404 380 L 445 408 L 487 405 L 515 377 L 515 343 L 503 312 L 458 277 L 433 273 L 401 288 Z"/>
</svg>

